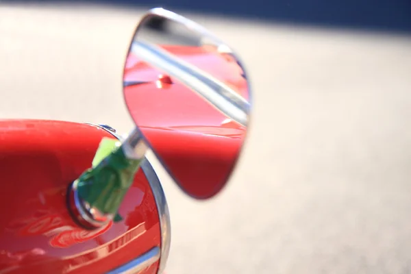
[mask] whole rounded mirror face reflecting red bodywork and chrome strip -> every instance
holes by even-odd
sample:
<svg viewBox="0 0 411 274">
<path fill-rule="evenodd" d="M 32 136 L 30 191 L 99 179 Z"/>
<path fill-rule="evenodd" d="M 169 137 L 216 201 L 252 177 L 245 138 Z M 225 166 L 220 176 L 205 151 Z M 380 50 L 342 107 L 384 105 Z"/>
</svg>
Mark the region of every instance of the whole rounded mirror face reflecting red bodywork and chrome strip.
<svg viewBox="0 0 411 274">
<path fill-rule="evenodd" d="M 138 25 L 124 69 L 132 119 L 188 195 L 216 195 L 247 131 L 250 90 L 232 49 L 206 29 L 162 9 Z"/>
</svg>

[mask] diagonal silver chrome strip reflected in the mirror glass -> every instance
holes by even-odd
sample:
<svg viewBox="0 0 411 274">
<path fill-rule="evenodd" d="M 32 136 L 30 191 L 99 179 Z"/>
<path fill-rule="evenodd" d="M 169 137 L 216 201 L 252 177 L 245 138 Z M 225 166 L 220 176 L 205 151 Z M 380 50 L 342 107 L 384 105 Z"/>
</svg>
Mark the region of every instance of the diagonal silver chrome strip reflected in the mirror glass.
<svg viewBox="0 0 411 274">
<path fill-rule="evenodd" d="M 141 60 L 177 78 L 223 114 L 247 127 L 249 103 L 223 82 L 147 42 L 134 41 L 132 52 Z"/>
</svg>

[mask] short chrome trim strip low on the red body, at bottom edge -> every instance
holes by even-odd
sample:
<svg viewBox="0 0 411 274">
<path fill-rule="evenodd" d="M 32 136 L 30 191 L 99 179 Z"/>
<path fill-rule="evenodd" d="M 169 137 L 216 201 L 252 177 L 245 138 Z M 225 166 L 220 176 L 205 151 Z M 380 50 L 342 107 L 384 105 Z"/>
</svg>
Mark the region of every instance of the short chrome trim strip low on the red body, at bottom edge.
<svg viewBox="0 0 411 274">
<path fill-rule="evenodd" d="M 147 253 L 142 254 L 142 256 L 132 260 L 131 262 L 127 262 L 123 266 L 120 266 L 117 269 L 109 271 L 108 273 L 122 273 L 122 274 L 132 274 L 137 273 L 138 271 L 142 271 L 143 269 L 151 266 L 154 262 L 160 258 L 160 248 L 153 247 Z"/>
</svg>

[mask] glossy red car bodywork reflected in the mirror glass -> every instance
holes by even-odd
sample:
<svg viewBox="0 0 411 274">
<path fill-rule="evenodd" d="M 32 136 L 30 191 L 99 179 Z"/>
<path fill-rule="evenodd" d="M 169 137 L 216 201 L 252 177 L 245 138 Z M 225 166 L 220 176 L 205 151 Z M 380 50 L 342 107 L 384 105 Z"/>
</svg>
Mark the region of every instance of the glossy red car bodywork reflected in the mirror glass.
<svg viewBox="0 0 411 274">
<path fill-rule="evenodd" d="M 164 49 L 249 99 L 244 71 L 231 55 L 205 47 Z M 164 79 L 161 71 L 140 62 L 135 55 L 128 56 L 125 82 L 140 83 L 125 87 L 129 112 L 182 190 L 197 199 L 210 198 L 232 173 L 246 129 L 173 77 L 173 84 L 165 86 L 159 84 L 159 78 Z"/>
</svg>

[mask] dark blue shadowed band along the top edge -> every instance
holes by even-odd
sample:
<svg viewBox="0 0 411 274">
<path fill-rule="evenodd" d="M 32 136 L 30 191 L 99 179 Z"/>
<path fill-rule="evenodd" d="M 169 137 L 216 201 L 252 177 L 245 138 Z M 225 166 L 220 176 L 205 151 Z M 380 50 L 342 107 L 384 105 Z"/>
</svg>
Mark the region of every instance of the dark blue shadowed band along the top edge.
<svg viewBox="0 0 411 274">
<path fill-rule="evenodd" d="M 15 3 L 21 0 L 1 1 Z M 59 1 L 25 0 L 23 2 L 54 3 Z M 409 0 L 66 0 L 65 2 L 103 3 L 112 6 L 121 5 L 126 8 L 160 6 L 166 9 L 184 9 L 273 22 L 411 32 L 411 1 Z"/>
</svg>

